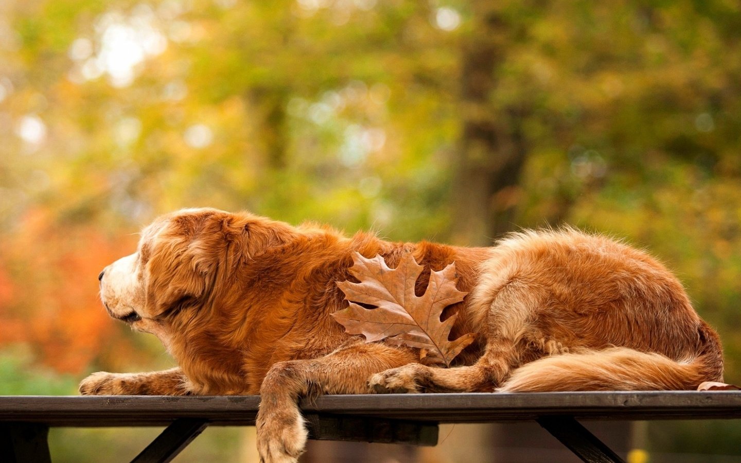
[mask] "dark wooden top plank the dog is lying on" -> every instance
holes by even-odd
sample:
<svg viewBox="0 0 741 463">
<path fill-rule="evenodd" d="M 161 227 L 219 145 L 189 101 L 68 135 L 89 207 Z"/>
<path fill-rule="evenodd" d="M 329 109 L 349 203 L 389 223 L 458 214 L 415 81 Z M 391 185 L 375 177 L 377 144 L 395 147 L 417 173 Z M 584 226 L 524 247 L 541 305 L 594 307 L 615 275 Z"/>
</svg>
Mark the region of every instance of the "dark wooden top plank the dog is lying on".
<svg viewBox="0 0 741 463">
<path fill-rule="evenodd" d="M 179 418 L 212 425 L 253 425 L 259 396 L 0 396 L 0 422 L 55 427 L 165 426 Z M 576 419 L 739 419 L 741 391 L 446 393 L 322 396 L 304 413 L 409 422 Z"/>
</svg>

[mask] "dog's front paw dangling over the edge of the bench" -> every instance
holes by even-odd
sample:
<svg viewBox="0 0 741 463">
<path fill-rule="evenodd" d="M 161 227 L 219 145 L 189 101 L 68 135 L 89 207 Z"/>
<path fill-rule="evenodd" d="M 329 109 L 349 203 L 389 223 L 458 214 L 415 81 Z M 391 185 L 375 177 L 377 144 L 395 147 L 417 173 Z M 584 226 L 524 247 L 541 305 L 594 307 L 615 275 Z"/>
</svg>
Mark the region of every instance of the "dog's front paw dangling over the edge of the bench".
<svg viewBox="0 0 741 463">
<path fill-rule="evenodd" d="M 268 404 L 268 403 L 272 404 Z M 293 403 L 266 401 L 257 413 L 257 450 L 262 463 L 296 463 L 304 453 L 308 431 Z"/>
</svg>

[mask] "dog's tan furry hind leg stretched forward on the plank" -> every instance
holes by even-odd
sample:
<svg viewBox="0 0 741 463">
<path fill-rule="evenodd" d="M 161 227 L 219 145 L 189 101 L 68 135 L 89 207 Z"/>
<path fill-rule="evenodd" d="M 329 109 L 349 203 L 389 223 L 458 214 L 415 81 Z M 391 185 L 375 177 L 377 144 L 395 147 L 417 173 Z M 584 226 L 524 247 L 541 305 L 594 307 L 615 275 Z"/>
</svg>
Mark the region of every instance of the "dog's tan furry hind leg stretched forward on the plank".
<svg viewBox="0 0 741 463">
<path fill-rule="evenodd" d="M 545 302 L 542 288 L 513 281 L 502 287 L 488 304 L 482 333 L 487 340 L 483 355 L 473 364 L 440 368 L 413 363 L 371 376 L 376 393 L 486 392 L 507 379 L 510 371 L 531 360 L 536 313 Z"/>
</svg>

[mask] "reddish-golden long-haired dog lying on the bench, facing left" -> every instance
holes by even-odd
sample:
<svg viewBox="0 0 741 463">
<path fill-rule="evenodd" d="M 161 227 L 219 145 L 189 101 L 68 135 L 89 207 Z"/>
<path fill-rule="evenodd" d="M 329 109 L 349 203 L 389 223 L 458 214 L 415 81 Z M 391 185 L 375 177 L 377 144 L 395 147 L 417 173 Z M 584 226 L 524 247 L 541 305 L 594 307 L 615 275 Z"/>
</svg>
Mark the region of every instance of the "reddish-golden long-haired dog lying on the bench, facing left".
<svg viewBox="0 0 741 463">
<path fill-rule="evenodd" d="M 353 253 L 425 270 L 455 262 L 463 302 L 450 339 L 478 333 L 450 368 L 419 350 L 352 336 Z M 144 228 L 136 253 L 99 276 L 115 319 L 157 336 L 179 367 L 93 373 L 82 394 L 257 394 L 266 463 L 296 462 L 307 439 L 297 401 L 316 393 L 694 390 L 722 381 L 717 333 L 656 259 L 571 228 L 513 233 L 492 247 L 396 243 L 373 233 L 186 209 Z M 445 316 L 445 314 L 444 314 Z"/>
</svg>

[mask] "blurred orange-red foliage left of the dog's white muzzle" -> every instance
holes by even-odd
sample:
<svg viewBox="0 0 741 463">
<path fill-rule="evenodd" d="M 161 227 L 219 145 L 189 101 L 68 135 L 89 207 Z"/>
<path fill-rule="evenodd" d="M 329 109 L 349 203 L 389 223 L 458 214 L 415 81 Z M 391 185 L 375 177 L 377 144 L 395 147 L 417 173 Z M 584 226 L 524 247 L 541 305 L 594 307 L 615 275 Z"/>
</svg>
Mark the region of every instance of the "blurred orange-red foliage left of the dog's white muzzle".
<svg viewBox="0 0 741 463">
<path fill-rule="evenodd" d="M 0 243 L 0 346 L 26 342 L 41 362 L 79 373 L 125 342 L 102 308 L 97 276 L 132 252 L 91 224 L 59 224 L 33 210 Z"/>
</svg>

